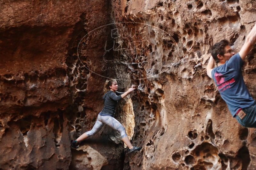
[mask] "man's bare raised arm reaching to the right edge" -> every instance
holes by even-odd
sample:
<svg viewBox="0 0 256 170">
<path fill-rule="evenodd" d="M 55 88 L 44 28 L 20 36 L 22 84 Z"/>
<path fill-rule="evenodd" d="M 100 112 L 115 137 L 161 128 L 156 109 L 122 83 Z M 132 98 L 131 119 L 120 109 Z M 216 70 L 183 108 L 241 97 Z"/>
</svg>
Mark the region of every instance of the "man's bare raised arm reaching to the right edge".
<svg viewBox="0 0 256 170">
<path fill-rule="evenodd" d="M 239 51 L 239 55 L 242 58 L 242 60 L 244 60 L 246 55 L 250 52 L 255 42 L 256 42 L 256 24 L 253 26 L 252 30 L 247 35 L 244 45 Z"/>
</svg>

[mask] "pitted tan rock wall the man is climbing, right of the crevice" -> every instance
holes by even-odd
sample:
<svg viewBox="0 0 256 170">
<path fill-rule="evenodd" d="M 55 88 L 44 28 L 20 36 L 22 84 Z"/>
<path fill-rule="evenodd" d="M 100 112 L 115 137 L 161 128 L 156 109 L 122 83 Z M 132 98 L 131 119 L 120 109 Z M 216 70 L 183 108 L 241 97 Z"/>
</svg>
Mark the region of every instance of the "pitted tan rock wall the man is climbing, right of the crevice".
<svg viewBox="0 0 256 170">
<path fill-rule="evenodd" d="M 127 52 L 138 85 L 133 140 L 143 145 L 126 156 L 124 169 L 255 169 L 255 130 L 231 117 L 206 75 L 210 45 L 228 39 L 236 52 L 241 48 L 255 24 L 254 1 L 112 4 L 116 23 L 136 22 L 117 24 L 135 35 L 122 43 L 134 49 Z M 255 47 L 243 74 L 255 98 Z"/>
</svg>

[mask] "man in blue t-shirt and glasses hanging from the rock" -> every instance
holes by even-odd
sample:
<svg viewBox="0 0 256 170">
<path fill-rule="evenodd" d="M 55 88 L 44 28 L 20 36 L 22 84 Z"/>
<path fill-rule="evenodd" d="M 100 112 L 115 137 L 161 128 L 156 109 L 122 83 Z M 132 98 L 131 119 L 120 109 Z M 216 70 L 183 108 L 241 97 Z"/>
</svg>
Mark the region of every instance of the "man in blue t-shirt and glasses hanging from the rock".
<svg viewBox="0 0 256 170">
<path fill-rule="evenodd" d="M 245 127 L 256 127 L 256 103 L 245 86 L 241 71 L 243 60 L 255 42 L 256 25 L 247 35 L 239 53 L 235 54 L 225 39 L 211 46 L 212 56 L 207 65 L 207 75 L 216 83 L 232 116 Z"/>
</svg>

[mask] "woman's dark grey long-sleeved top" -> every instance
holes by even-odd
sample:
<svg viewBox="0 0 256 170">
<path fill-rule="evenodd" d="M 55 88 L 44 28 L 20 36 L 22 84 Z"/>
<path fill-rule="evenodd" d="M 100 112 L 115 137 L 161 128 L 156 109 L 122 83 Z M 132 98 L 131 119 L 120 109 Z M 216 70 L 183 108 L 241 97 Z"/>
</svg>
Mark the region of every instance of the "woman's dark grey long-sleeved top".
<svg viewBox="0 0 256 170">
<path fill-rule="evenodd" d="M 123 93 L 118 91 L 113 92 L 112 90 L 106 92 L 105 95 L 102 97 L 104 100 L 104 108 L 101 111 L 100 115 L 114 117 L 116 105 L 118 101 L 122 99 L 121 94 Z"/>
</svg>

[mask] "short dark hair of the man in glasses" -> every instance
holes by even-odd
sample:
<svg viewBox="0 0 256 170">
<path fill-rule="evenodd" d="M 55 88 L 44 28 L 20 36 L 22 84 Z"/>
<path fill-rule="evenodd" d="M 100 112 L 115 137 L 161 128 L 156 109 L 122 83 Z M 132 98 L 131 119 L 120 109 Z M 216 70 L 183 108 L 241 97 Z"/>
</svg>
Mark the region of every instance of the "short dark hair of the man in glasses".
<svg viewBox="0 0 256 170">
<path fill-rule="evenodd" d="M 228 46 L 228 45 L 229 45 L 229 41 L 226 39 L 223 39 L 220 42 L 217 42 L 216 44 L 214 44 L 213 46 L 210 46 L 210 53 L 212 54 L 216 64 L 220 62 L 217 55 L 218 54 L 224 55 L 225 53 L 224 48 L 225 46 Z"/>
</svg>

